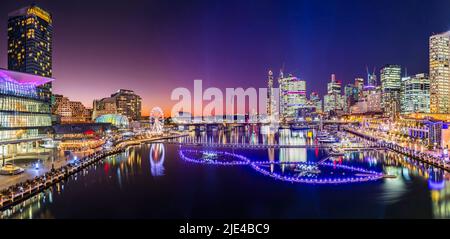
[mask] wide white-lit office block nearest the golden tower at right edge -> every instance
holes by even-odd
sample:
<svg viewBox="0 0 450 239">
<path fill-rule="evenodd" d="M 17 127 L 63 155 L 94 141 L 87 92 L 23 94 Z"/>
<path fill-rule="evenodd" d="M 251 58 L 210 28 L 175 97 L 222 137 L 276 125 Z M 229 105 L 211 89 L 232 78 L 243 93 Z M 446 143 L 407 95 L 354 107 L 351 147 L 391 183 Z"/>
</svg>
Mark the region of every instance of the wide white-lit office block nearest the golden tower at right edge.
<svg viewBox="0 0 450 239">
<path fill-rule="evenodd" d="M 430 113 L 430 80 L 427 74 L 402 78 L 401 113 Z"/>
</svg>

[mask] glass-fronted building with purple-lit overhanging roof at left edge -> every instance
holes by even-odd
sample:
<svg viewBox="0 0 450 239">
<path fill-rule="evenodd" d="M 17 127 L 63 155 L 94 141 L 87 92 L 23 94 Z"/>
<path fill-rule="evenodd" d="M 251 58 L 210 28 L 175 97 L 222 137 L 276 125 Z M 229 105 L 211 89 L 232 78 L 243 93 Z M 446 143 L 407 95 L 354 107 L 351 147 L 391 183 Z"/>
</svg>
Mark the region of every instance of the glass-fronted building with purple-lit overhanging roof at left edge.
<svg viewBox="0 0 450 239">
<path fill-rule="evenodd" d="M 53 79 L 0 69 L 0 154 L 33 152 L 51 127 L 51 110 L 37 87 Z"/>
</svg>

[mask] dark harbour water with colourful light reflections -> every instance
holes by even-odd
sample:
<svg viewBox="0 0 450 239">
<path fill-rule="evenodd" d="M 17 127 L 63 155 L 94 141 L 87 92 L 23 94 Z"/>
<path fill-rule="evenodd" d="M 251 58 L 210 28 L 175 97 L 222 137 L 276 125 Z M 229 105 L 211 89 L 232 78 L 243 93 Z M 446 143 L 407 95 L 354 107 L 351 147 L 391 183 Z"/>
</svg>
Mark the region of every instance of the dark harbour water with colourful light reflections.
<svg viewBox="0 0 450 239">
<path fill-rule="evenodd" d="M 267 135 L 250 129 L 192 133 L 179 141 L 309 145 L 303 148 L 132 147 L 4 211 L 2 217 L 450 218 L 448 173 L 384 150 L 328 158 L 326 149 L 314 147 L 314 134 L 281 130 Z M 244 159 L 249 162 L 219 164 Z M 367 172 L 395 177 L 338 184 L 280 180 L 343 181 L 367 177 Z"/>
</svg>

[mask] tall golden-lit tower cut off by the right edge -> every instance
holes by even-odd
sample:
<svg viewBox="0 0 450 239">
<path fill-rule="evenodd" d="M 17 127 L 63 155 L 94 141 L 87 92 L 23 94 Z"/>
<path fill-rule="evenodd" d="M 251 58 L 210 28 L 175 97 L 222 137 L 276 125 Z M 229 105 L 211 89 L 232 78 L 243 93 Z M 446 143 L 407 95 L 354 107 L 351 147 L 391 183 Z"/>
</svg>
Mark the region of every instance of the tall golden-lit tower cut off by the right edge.
<svg viewBox="0 0 450 239">
<path fill-rule="evenodd" d="M 450 32 L 430 37 L 430 110 L 450 113 Z"/>
</svg>

